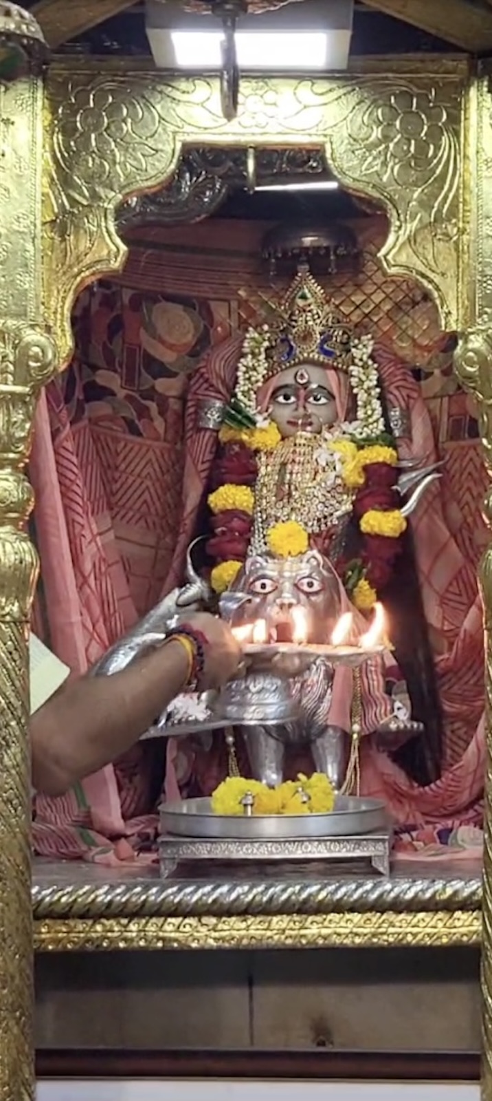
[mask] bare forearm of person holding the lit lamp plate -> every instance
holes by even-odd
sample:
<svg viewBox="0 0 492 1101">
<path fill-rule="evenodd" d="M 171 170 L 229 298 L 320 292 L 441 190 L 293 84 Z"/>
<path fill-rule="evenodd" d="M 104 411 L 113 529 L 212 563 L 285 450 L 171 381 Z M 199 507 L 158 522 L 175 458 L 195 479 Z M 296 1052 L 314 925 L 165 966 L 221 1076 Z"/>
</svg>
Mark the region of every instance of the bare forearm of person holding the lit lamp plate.
<svg viewBox="0 0 492 1101">
<path fill-rule="evenodd" d="M 186 650 L 170 641 L 113 676 L 69 680 L 31 719 L 36 791 L 60 795 L 125 753 L 188 675 Z"/>
</svg>

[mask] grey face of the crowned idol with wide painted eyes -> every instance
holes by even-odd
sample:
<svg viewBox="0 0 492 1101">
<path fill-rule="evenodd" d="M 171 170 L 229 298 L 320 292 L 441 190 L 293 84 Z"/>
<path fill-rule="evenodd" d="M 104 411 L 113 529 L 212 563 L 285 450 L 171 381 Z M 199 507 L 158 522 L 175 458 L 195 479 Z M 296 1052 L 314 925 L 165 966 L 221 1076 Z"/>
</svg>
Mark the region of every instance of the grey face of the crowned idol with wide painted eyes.
<svg viewBox="0 0 492 1101">
<path fill-rule="evenodd" d="M 327 372 L 313 363 L 280 371 L 268 412 L 284 439 L 298 432 L 317 434 L 331 428 L 337 421 L 337 410 Z"/>
</svg>

